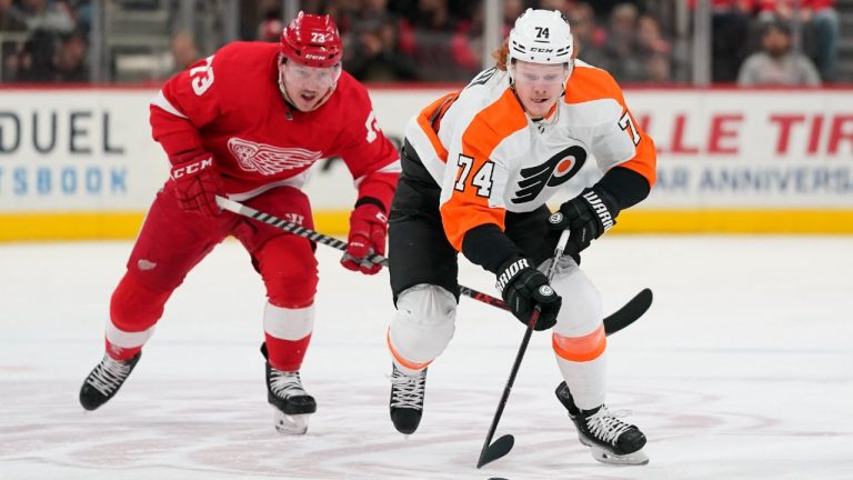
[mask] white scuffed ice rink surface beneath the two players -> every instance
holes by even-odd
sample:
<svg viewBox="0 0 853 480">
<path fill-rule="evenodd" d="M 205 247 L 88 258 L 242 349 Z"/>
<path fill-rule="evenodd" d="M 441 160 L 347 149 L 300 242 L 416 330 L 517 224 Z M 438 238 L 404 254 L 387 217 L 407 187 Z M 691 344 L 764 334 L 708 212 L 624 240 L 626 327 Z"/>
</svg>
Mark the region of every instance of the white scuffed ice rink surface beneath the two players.
<svg viewBox="0 0 853 480">
<path fill-rule="evenodd" d="M 609 403 L 649 438 L 645 467 L 594 461 L 553 390 L 534 334 L 500 426 L 515 448 L 474 463 L 523 334 L 462 299 L 405 438 L 388 414 L 393 308 L 320 246 L 302 378 L 318 413 L 283 437 L 267 404 L 263 289 L 235 242 L 167 304 L 137 370 L 94 412 L 77 396 L 102 356 L 130 242 L 0 246 L 0 479 L 851 479 L 853 238 L 611 236 L 583 268 L 611 312 L 643 287 L 652 309 L 609 339 Z M 463 284 L 494 292 L 462 262 Z M 564 299 L 563 308 L 572 300 Z"/>
</svg>

